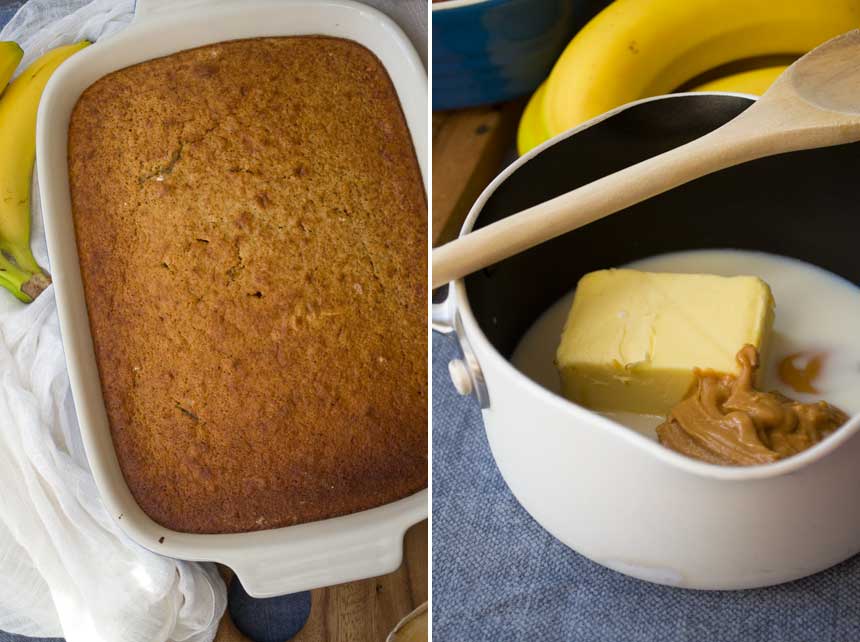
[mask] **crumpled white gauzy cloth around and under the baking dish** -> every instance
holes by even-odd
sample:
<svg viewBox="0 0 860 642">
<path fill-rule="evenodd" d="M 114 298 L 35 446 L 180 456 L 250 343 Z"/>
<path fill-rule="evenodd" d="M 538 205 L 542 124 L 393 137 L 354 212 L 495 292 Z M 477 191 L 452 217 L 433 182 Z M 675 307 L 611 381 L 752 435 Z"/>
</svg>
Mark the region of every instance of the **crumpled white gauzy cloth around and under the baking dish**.
<svg viewBox="0 0 860 642">
<path fill-rule="evenodd" d="M 426 0 L 365 0 L 398 22 L 426 65 Z M 98 40 L 133 0 L 30 0 L 0 31 L 24 49 Z M 50 267 L 38 189 L 33 253 Z M 204 642 L 226 606 L 212 564 L 129 540 L 108 516 L 81 442 L 53 288 L 30 305 L 0 289 L 0 630 L 67 642 Z"/>
</svg>

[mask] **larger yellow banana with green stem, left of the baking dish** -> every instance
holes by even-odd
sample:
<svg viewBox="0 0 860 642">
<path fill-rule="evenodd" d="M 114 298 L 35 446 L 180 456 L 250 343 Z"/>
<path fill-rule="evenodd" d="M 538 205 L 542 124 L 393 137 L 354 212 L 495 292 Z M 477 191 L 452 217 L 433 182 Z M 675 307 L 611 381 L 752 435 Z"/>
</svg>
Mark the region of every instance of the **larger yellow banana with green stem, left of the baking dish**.
<svg viewBox="0 0 860 642">
<path fill-rule="evenodd" d="M 51 282 L 30 251 L 39 100 L 57 67 L 88 44 L 52 49 L 21 72 L 0 97 L 0 285 L 27 303 Z"/>
</svg>

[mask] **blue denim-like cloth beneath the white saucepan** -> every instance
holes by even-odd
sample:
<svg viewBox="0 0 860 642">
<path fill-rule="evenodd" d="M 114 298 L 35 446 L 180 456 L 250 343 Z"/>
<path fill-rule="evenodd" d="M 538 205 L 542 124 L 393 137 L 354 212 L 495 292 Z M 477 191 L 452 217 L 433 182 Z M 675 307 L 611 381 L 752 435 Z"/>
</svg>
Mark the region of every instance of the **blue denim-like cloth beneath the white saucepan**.
<svg viewBox="0 0 860 642">
<path fill-rule="evenodd" d="M 860 555 L 781 586 L 703 592 L 626 577 L 554 539 L 505 485 L 477 402 L 451 385 L 457 356 L 434 334 L 435 642 L 860 640 Z"/>
</svg>

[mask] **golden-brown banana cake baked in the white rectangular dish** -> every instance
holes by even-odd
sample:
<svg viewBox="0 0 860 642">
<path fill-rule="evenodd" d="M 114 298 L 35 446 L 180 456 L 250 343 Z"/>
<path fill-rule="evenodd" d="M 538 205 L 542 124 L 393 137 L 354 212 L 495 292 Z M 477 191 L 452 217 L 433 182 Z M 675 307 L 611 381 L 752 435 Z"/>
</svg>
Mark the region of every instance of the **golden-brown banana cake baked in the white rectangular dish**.
<svg viewBox="0 0 860 642">
<path fill-rule="evenodd" d="M 361 45 L 223 42 L 111 73 L 71 117 L 113 442 L 167 528 L 246 532 L 427 484 L 427 202 Z"/>
</svg>

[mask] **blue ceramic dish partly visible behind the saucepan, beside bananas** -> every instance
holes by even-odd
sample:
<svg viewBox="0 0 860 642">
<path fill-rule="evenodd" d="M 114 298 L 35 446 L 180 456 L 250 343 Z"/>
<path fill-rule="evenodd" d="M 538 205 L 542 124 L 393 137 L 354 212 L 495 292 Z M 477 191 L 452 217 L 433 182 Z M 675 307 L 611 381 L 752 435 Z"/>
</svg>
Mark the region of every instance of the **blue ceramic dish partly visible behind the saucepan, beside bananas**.
<svg viewBox="0 0 860 642">
<path fill-rule="evenodd" d="M 574 31 L 606 4 L 591 0 L 448 0 L 433 4 L 433 109 L 534 91 Z"/>
</svg>

